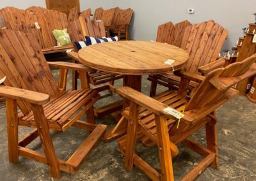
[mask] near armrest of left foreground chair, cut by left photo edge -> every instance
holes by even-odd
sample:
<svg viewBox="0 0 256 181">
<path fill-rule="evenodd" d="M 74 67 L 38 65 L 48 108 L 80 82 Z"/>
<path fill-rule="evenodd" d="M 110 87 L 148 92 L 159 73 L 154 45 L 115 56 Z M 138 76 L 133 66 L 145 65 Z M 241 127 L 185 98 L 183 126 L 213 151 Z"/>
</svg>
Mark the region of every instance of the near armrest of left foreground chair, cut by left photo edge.
<svg viewBox="0 0 256 181">
<path fill-rule="evenodd" d="M 0 96 L 18 101 L 25 101 L 34 105 L 44 105 L 50 101 L 48 94 L 28 91 L 26 89 L 19 89 L 5 85 L 0 85 Z"/>
</svg>

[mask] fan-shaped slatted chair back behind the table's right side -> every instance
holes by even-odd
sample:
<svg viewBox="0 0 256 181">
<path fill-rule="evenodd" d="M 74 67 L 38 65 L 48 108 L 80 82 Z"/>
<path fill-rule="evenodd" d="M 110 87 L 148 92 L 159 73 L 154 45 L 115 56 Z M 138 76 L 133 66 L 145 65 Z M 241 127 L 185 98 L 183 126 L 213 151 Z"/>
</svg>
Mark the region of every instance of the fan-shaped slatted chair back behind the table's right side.
<svg viewBox="0 0 256 181">
<path fill-rule="evenodd" d="M 216 61 L 227 34 L 227 30 L 213 20 L 186 27 L 180 44 L 189 54 L 185 70 L 198 73 L 200 66 Z"/>
</svg>

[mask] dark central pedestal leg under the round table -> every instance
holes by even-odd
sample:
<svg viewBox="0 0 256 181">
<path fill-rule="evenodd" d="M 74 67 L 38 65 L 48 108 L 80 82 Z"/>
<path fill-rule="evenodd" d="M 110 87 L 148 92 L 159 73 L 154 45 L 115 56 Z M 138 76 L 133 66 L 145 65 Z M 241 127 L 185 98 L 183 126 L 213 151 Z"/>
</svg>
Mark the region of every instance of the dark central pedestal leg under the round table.
<svg viewBox="0 0 256 181">
<path fill-rule="evenodd" d="M 136 91 L 141 91 L 141 75 L 124 75 L 123 78 L 123 86 L 131 87 Z M 129 106 L 129 100 L 123 99 L 123 109 Z M 116 126 L 107 131 L 104 136 L 103 140 L 111 141 L 115 138 L 120 138 L 127 132 L 127 119 L 122 117 Z"/>
</svg>

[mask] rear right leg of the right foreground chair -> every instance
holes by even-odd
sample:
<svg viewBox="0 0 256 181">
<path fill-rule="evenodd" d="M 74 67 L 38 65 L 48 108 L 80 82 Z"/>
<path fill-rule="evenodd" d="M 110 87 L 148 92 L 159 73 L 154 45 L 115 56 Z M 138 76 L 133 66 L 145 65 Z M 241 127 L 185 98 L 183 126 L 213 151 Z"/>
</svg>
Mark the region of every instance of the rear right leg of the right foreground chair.
<svg viewBox="0 0 256 181">
<path fill-rule="evenodd" d="M 217 124 L 212 125 L 207 123 L 205 125 L 206 131 L 206 143 L 207 148 L 215 153 L 215 160 L 211 164 L 213 168 L 218 169 L 219 167 L 219 157 L 218 157 L 218 143 L 217 143 Z"/>
</svg>

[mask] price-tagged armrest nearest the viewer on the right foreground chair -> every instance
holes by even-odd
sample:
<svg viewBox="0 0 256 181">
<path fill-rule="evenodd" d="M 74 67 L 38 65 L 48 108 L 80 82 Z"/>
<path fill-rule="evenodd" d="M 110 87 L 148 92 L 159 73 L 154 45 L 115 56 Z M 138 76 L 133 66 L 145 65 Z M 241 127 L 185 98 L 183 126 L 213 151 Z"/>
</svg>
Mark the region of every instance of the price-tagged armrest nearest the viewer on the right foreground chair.
<svg viewBox="0 0 256 181">
<path fill-rule="evenodd" d="M 119 89 L 116 89 L 115 92 L 120 96 L 142 106 L 143 108 L 147 108 L 156 115 L 169 119 L 176 119 L 170 115 L 170 113 L 164 111 L 165 108 L 168 108 L 168 105 L 165 105 L 156 99 L 150 98 L 141 92 L 135 91 L 131 87 L 120 87 Z"/>
</svg>

